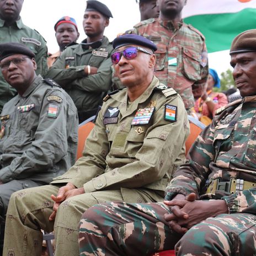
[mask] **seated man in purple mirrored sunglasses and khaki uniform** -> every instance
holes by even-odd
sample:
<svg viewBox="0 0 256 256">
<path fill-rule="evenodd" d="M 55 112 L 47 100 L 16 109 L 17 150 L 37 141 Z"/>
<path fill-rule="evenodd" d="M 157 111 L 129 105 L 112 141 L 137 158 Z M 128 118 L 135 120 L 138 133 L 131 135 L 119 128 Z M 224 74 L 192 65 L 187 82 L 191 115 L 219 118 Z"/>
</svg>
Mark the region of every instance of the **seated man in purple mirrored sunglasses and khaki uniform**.
<svg viewBox="0 0 256 256">
<path fill-rule="evenodd" d="M 56 256 L 77 256 L 84 211 L 105 201 L 162 201 L 174 170 L 184 163 L 188 119 L 180 96 L 154 77 L 156 45 L 125 35 L 113 46 L 111 60 L 126 88 L 104 99 L 83 157 L 66 174 L 12 195 L 4 255 L 41 255 L 33 244 L 41 244 L 43 229 L 55 230 Z M 24 234 L 31 246 L 24 247 Z"/>
</svg>

